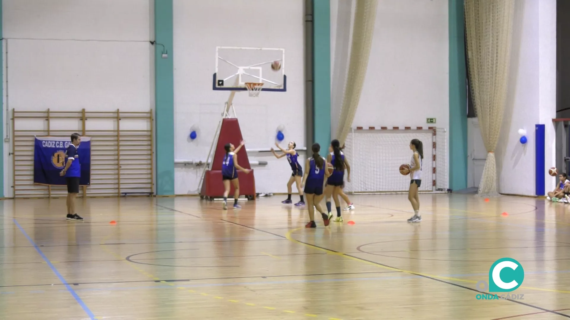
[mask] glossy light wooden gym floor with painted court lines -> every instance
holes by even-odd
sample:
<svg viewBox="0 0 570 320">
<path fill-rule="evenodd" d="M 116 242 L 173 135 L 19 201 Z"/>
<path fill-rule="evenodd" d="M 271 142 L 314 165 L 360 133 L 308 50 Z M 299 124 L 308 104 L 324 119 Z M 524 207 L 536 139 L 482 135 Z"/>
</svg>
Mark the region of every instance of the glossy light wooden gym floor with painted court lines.
<svg viewBox="0 0 570 320">
<path fill-rule="evenodd" d="M 65 199 L 3 200 L 0 319 L 570 317 L 568 204 L 421 195 L 409 224 L 407 195 L 359 195 L 344 224 L 306 229 L 282 198 L 79 199 L 84 222 Z M 524 300 L 477 300 L 502 257 Z"/>
</svg>

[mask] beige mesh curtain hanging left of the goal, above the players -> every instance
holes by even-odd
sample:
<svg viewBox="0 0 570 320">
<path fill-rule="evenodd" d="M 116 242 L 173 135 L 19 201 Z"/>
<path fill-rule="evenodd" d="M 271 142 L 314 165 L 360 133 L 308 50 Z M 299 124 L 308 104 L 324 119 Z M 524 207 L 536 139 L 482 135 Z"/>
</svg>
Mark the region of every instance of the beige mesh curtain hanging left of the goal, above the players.
<svg viewBox="0 0 570 320">
<path fill-rule="evenodd" d="M 344 87 L 343 105 L 340 109 L 339 126 L 336 134 L 340 145 L 343 145 L 347 138 L 360 100 L 368 67 L 370 47 L 372 47 L 377 6 L 377 0 L 356 0 L 347 83 Z"/>
</svg>

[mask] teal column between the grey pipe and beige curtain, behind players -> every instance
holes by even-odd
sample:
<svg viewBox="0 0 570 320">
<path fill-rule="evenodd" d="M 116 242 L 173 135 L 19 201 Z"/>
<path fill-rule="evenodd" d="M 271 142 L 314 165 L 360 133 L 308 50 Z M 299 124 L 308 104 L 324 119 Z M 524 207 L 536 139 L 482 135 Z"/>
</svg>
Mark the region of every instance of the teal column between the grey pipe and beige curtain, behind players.
<svg viewBox="0 0 570 320">
<path fill-rule="evenodd" d="M 313 133 L 327 153 L 331 143 L 331 3 L 313 0 Z M 311 146 L 307 146 L 309 149 Z"/>
</svg>

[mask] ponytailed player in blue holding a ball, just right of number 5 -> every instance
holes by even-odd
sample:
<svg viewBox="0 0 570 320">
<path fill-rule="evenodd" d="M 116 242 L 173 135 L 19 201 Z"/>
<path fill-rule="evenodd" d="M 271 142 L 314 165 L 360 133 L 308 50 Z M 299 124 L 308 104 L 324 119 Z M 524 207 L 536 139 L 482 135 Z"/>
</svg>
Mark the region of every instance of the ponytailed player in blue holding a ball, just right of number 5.
<svg viewBox="0 0 570 320">
<path fill-rule="evenodd" d="M 332 171 L 331 176 L 328 177 L 327 179 L 327 187 L 325 188 L 327 210 L 330 215 L 331 195 L 332 195 L 332 199 L 335 200 L 335 207 L 336 207 L 335 222 L 342 222 L 343 217 L 340 215 L 339 194 L 343 192 L 345 169 L 347 170 L 347 180 L 348 182 L 351 182 L 351 166 L 348 164 L 348 161 L 344 157 L 344 154 L 340 151 L 340 142 L 338 140 L 335 139 L 331 141 L 331 146 L 329 147 L 329 151 L 331 151 L 331 153 L 327 155 L 327 162 L 332 163 L 334 169 Z"/>
</svg>

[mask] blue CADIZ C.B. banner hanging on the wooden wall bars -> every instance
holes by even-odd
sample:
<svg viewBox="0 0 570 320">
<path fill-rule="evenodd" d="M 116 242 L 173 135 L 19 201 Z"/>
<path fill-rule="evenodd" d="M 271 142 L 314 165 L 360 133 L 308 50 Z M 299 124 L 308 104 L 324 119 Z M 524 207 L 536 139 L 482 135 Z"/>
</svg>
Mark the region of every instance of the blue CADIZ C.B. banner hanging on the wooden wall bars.
<svg viewBox="0 0 570 320">
<path fill-rule="evenodd" d="M 35 137 L 34 143 L 34 183 L 51 186 L 65 186 L 66 177 L 59 173 L 66 166 L 65 157 L 70 138 Z M 81 165 L 80 186 L 89 186 L 91 182 L 91 138 L 81 137 L 77 149 Z"/>
</svg>

